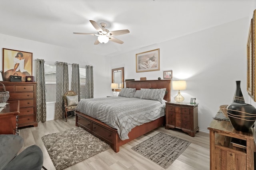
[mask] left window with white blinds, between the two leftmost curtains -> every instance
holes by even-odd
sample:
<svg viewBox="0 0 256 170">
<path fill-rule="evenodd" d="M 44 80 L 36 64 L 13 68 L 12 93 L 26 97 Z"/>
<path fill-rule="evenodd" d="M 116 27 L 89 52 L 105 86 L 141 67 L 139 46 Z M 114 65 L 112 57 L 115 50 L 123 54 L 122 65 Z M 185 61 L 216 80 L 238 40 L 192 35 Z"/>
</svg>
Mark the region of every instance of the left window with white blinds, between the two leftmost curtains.
<svg viewBox="0 0 256 170">
<path fill-rule="evenodd" d="M 56 102 L 56 65 L 44 64 L 46 102 Z"/>
</svg>

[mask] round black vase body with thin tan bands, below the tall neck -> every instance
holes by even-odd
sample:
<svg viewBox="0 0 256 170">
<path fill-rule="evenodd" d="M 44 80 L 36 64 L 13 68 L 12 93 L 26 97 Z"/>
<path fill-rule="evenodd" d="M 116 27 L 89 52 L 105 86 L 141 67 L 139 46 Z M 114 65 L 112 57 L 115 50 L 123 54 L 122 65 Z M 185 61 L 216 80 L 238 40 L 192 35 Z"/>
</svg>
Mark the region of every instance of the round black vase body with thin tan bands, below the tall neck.
<svg viewBox="0 0 256 170">
<path fill-rule="evenodd" d="M 230 123 L 237 131 L 248 132 L 256 120 L 256 108 L 246 103 L 232 103 L 227 109 Z"/>
</svg>

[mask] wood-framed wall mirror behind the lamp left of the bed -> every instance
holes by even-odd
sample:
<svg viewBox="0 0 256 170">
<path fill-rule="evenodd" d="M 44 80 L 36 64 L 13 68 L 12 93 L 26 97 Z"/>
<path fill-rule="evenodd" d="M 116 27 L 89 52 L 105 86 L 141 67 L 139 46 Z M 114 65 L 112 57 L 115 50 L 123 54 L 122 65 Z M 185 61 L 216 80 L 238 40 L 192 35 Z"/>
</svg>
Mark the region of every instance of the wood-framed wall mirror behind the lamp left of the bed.
<svg viewBox="0 0 256 170">
<path fill-rule="evenodd" d="M 124 67 L 112 69 L 112 83 L 118 84 L 117 92 L 120 92 L 124 88 Z M 114 91 L 114 89 L 112 89 Z"/>
</svg>

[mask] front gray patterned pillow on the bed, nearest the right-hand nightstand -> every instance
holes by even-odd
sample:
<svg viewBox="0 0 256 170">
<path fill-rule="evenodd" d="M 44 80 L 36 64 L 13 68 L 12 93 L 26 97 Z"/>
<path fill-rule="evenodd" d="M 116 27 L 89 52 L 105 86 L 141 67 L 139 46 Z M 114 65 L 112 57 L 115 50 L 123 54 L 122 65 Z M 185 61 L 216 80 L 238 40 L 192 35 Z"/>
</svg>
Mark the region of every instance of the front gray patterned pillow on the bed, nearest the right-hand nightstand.
<svg viewBox="0 0 256 170">
<path fill-rule="evenodd" d="M 157 100 L 162 103 L 166 88 L 156 88 L 156 89 L 142 88 L 140 90 L 141 90 L 141 96 L 140 96 L 141 99 Z"/>
</svg>

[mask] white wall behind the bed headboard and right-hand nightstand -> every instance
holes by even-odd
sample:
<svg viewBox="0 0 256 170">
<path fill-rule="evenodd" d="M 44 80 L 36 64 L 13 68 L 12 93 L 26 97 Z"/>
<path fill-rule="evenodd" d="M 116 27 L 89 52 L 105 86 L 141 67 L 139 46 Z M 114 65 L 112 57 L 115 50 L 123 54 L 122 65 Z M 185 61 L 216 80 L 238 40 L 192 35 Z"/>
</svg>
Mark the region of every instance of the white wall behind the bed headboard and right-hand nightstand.
<svg viewBox="0 0 256 170">
<path fill-rule="evenodd" d="M 246 102 L 246 41 L 250 18 L 242 18 L 197 33 L 137 49 L 111 58 L 111 68 L 124 66 L 124 78 L 147 80 L 163 78 L 163 70 L 173 70 L 173 80 L 186 80 L 187 90 L 181 92 L 185 101 L 196 98 L 199 103 L 198 122 L 208 132 L 222 104 L 232 103 L 236 80 L 241 80 Z M 160 48 L 160 71 L 136 73 L 136 53 Z M 172 90 L 171 100 L 177 91 Z"/>
</svg>

